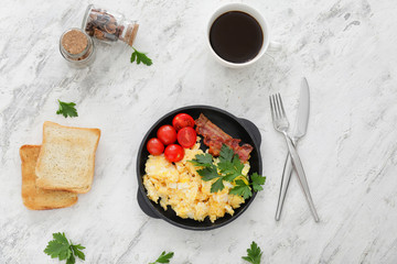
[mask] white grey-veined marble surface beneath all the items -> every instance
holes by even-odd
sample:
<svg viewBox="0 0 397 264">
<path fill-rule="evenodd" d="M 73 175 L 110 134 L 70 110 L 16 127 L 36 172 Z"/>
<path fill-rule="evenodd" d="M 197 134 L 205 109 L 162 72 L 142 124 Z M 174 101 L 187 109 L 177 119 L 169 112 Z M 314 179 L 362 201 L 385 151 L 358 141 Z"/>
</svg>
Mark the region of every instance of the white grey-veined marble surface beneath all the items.
<svg viewBox="0 0 397 264">
<path fill-rule="evenodd" d="M 69 69 L 61 33 L 79 26 L 86 0 L 3 1 L 0 15 L 0 263 L 58 263 L 43 253 L 64 231 L 85 263 L 244 263 L 255 240 L 262 263 L 397 263 L 397 4 L 395 0 L 250 0 L 283 50 L 253 67 L 227 69 L 205 45 L 211 12 L 228 1 L 105 1 L 141 26 L 136 46 L 153 58 L 131 65 L 121 43 L 99 46 L 85 72 Z M 280 91 L 290 119 L 299 84 L 311 87 L 301 141 L 314 223 L 292 178 L 275 221 L 286 146 L 269 116 Z M 56 99 L 78 118 L 56 116 Z M 147 217 L 136 200 L 136 157 L 146 131 L 175 108 L 204 103 L 254 121 L 262 135 L 265 190 L 233 223 L 192 232 Z M 30 211 L 22 205 L 19 147 L 40 144 L 42 124 L 101 129 L 93 189 L 72 208 Z"/>
</svg>

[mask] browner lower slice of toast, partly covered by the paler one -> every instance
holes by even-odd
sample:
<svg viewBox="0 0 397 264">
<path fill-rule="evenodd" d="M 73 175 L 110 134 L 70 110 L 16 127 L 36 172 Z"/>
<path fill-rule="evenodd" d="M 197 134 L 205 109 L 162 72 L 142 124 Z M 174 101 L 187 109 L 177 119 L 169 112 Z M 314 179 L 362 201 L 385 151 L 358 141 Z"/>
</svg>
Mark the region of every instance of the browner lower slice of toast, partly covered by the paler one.
<svg viewBox="0 0 397 264">
<path fill-rule="evenodd" d="M 35 166 L 40 145 L 23 145 L 20 148 L 22 161 L 22 201 L 31 210 L 45 210 L 73 206 L 77 195 L 62 190 L 45 190 L 36 187 Z"/>
</svg>

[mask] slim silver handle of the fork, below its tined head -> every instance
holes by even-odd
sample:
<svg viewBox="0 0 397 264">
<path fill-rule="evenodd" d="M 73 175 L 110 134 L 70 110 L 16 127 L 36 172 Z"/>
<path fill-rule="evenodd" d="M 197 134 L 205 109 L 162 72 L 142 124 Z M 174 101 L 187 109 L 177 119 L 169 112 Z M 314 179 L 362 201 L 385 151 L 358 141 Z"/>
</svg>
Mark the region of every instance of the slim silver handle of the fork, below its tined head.
<svg viewBox="0 0 397 264">
<path fill-rule="evenodd" d="M 309 184 L 308 184 L 308 180 L 307 180 L 307 177 L 305 177 L 305 174 L 304 174 L 303 165 L 301 163 L 301 160 L 299 157 L 297 148 L 294 147 L 294 145 L 292 143 L 291 138 L 289 138 L 289 135 L 287 133 L 283 133 L 283 134 L 286 136 L 288 151 L 289 151 L 289 154 L 291 156 L 293 167 L 294 167 L 294 169 L 297 170 L 297 174 L 298 174 L 299 183 L 300 183 L 300 185 L 302 186 L 302 189 L 303 189 L 304 198 L 307 199 L 307 201 L 309 204 L 309 208 L 310 208 L 310 211 L 311 211 L 311 213 L 312 213 L 312 216 L 314 218 L 314 221 L 319 222 L 320 219 L 319 219 L 319 216 L 316 213 L 313 199 L 312 199 L 312 197 L 310 195 Z"/>
</svg>

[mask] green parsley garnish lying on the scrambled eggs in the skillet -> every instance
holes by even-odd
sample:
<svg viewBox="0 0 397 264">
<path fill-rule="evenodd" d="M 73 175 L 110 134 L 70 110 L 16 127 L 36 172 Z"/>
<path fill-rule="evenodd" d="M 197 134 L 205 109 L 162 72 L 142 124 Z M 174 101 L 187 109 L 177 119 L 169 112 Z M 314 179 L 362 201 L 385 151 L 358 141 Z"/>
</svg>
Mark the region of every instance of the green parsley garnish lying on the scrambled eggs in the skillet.
<svg viewBox="0 0 397 264">
<path fill-rule="evenodd" d="M 243 176 L 244 164 L 239 160 L 238 155 L 234 151 L 223 144 L 221 148 L 219 162 L 215 165 L 213 162 L 213 156 L 208 153 L 197 154 L 195 158 L 190 161 L 195 166 L 202 167 L 197 169 L 200 176 L 205 182 L 216 179 L 211 186 L 211 193 L 216 193 L 225 188 L 223 182 L 234 182 L 237 177 Z M 238 195 L 248 199 L 253 196 L 251 188 L 255 191 L 262 190 L 261 185 L 265 184 L 266 177 L 254 173 L 250 176 L 251 183 L 244 179 L 236 179 L 235 187 L 229 190 L 230 195 Z"/>
</svg>

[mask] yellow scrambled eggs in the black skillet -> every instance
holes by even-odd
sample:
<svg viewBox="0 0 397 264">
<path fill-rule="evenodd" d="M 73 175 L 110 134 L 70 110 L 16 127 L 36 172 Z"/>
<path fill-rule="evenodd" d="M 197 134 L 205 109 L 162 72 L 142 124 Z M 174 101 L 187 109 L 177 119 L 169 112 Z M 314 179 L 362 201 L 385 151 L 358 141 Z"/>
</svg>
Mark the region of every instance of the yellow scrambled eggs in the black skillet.
<svg viewBox="0 0 397 264">
<path fill-rule="evenodd" d="M 202 180 L 195 166 L 187 162 L 204 153 L 200 150 L 200 143 L 191 150 L 185 148 L 184 152 L 183 160 L 175 164 L 168 162 L 163 154 L 149 155 L 143 176 L 148 197 L 157 204 L 160 198 L 160 205 L 164 210 L 167 206 L 171 206 L 181 218 L 204 221 L 210 217 L 214 222 L 226 212 L 233 216 L 233 209 L 244 204 L 243 197 L 228 194 L 234 185 L 224 180 L 225 188 L 222 191 L 211 193 L 211 185 L 215 179 Z M 249 164 L 246 163 L 243 174 L 247 175 L 248 170 Z"/>
</svg>

